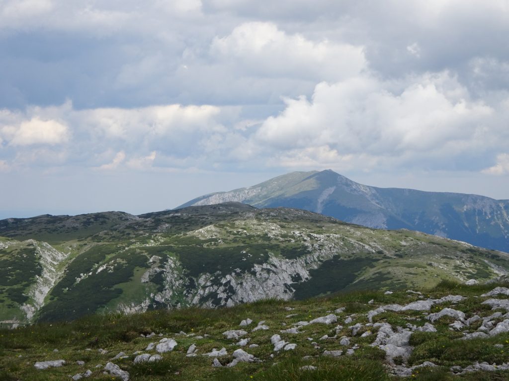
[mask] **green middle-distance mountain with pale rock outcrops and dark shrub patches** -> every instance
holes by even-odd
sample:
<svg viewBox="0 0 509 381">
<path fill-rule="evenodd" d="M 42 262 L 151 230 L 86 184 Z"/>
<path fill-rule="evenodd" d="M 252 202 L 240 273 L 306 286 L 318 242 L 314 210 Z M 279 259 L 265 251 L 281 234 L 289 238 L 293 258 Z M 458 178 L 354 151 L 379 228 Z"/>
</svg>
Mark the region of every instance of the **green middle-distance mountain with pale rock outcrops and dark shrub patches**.
<svg viewBox="0 0 509 381">
<path fill-rule="evenodd" d="M 228 202 L 0 221 L 0 321 L 232 306 L 506 274 L 509 255 L 407 230 Z"/>
</svg>

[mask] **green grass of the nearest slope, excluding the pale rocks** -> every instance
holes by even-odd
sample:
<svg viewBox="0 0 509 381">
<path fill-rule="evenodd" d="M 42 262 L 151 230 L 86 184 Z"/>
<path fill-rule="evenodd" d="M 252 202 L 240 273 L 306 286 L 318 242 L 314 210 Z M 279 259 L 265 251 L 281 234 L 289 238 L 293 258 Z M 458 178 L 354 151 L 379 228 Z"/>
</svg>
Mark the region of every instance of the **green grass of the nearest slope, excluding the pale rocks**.
<svg viewBox="0 0 509 381">
<path fill-rule="evenodd" d="M 493 314 L 491 307 L 482 302 L 488 298 L 481 294 L 493 290 L 497 286 L 462 285 L 455 282 L 441 282 L 430 290 L 421 290 L 425 297 L 441 298 L 446 295 L 462 295 L 465 300 L 454 304 L 443 303 L 434 306 L 430 312 L 436 312 L 447 306 L 465 312 L 467 316 L 474 313 L 479 316 Z M 0 380 L 68 380 L 70 376 L 92 371 L 90 380 L 112 380 L 115 377 L 103 374 L 103 367 L 120 352 L 128 358 L 113 360 L 120 368 L 130 374 L 134 381 L 142 380 L 388 380 L 400 379 L 389 372 L 385 353 L 378 347 L 370 346 L 376 337 L 361 337 L 370 327 L 366 327 L 366 312 L 387 304 L 407 304 L 416 301 L 416 294 L 405 291 L 385 295 L 383 292 L 352 292 L 338 294 L 327 298 L 315 298 L 303 301 L 280 301 L 275 299 L 257 303 L 239 305 L 232 308 L 199 309 L 186 308 L 181 310 L 155 310 L 146 313 L 123 315 L 92 315 L 72 322 L 40 323 L 14 330 L 0 330 Z M 506 296 L 497 296 L 499 299 Z M 368 302 L 373 300 L 372 304 Z M 337 324 L 310 324 L 302 327 L 298 334 L 284 334 L 280 330 L 293 327 L 299 321 L 310 321 L 319 316 L 327 315 L 337 308 L 344 307 L 343 312 L 336 313 L 337 324 L 344 328 L 337 333 L 338 337 L 351 336 L 349 326 L 363 324 L 359 333 L 351 337 L 352 345 L 358 345 L 353 355 L 343 354 L 337 358 L 324 357 L 325 350 L 346 350 L 340 346 L 339 339 L 323 339 L 324 335 L 334 336 Z M 291 310 L 290 310 L 291 309 Z M 500 310 L 506 313 L 505 310 Z M 345 324 L 347 316 L 355 314 L 354 323 Z M 239 327 L 243 319 L 250 318 L 254 322 L 248 327 Z M 499 319 L 501 321 L 503 319 Z M 265 321 L 268 330 L 251 330 L 258 322 Z M 417 368 L 410 376 L 419 380 L 507 380 L 507 371 L 477 371 L 462 375 L 450 373 L 451 366 L 466 367 L 474 362 L 487 361 L 501 364 L 509 361 L 509 333 L 502 333 L 485 339 L 457 340 L 462 333 L 450 330 L 449 324 L 454 319 L 444 317 L 434 323 L 437 332 L 413 332 L 410 344 L 414 346 L 408 367 L 431 361 L 438 367 Z M 406 327 L 407 323 L 422 326 L 427 322 L 421 311 L 383 312 L 373 318 L 373 323 L 386 322 L 395 327 Z M 475 327 L 474 327 L 475 328 Z M 226 339 L 222 332 L 245 329 L 248 332 L 249 344 L 257 347 L 242 347 L 261 362 L 239 363 L 232 368 L 214 368 L 214 357 L 203 354 L 213 348 L 226 348 L 228 355 L 219 357 L 222 364 L 233 360 L 233 352 L 240 348 L 237 340 Z M 182 334 L 179 332 L 185 332 Z M 154 332 L 155 337 L 141 336 Z M 293 351 L 273 352 L 270 338 L 280 334 L 287 342 L 297 344 Z M 153 363 L 134 364 L 136 351 L 145 352 L 150 342 L 159 342 L 160 336 L 175 338 L 178 345 L 172 352 L 162 354 L 162 360 Z M 202 338 L 200 338 L 202 337 Z M 309 340 L 312 338 L 313 340 Z M 313 342 L 317 344 L 313 344 Z M 196 344 L 196 357 L 186 357 L 191 344 Z M 497 344 L 495 346 L 495 344 Z M 58 352 L 54 351 L 57 350 Z M 100 352 L 99 350 L 105 350 Z M 304 356 L 309 356 L 304 358 Z M 59 368 L 37 370 L 34 364 L 38 361 L 60 360 L 66 365 Z M 76 361 L 83 361 L 78 365 Z M 398 359 L 395 359 L 398 363 Z M 102 365 L 97 367 L 97 365 Z M 301 369 L 310 365 L 317 369 Z M 120 378 L 118 378 L 120 379 Z"/>
</svg>

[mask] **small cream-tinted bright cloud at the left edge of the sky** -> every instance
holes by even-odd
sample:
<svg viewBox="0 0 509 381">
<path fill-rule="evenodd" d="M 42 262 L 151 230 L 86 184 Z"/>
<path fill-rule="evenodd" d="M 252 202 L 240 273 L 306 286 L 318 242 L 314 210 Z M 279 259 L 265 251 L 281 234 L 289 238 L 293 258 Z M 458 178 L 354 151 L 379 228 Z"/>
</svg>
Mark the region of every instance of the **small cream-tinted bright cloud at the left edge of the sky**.
<svg viewBox="0 0 509 381">
<path fill-rule="evenodd" d="M 67 125 L 56 120 L 43 120 L 39 117 L 23 120 L 19 125 L 5 125 L 1 132 L 11 146 L 55 145 L 65 143 L 69 139 Z"/>
</svg>

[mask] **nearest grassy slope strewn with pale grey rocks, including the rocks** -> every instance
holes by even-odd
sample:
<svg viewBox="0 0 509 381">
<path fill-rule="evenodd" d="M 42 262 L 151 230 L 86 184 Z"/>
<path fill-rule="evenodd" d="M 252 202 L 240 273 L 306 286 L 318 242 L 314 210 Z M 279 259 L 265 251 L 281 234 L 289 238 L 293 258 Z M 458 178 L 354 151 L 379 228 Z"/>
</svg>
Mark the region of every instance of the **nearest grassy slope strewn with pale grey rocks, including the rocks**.
<svg viewBox="0 0 509 381">
<path fill-rule="evenodd" d="M 443 281 L 4 329 L 0 379 L 502 381 L 508 286 Z"/>
</svg>

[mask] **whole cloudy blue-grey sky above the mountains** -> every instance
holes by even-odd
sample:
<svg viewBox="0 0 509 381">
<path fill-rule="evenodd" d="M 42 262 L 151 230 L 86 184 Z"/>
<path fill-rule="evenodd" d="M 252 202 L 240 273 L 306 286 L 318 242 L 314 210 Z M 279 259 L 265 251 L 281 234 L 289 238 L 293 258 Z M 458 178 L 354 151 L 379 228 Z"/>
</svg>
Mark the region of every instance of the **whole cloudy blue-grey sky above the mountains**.
<svg viewBox="0 0 509 381">
<path fill-rule="evenodd" d="M 509 199 L 506 0 L 0 0 L 0 218 L 291 171 Z"/>
</svg>

